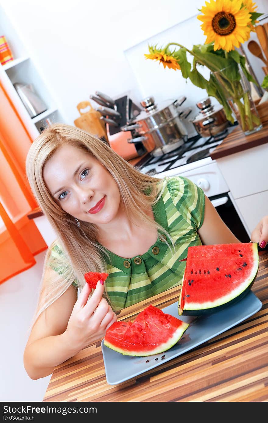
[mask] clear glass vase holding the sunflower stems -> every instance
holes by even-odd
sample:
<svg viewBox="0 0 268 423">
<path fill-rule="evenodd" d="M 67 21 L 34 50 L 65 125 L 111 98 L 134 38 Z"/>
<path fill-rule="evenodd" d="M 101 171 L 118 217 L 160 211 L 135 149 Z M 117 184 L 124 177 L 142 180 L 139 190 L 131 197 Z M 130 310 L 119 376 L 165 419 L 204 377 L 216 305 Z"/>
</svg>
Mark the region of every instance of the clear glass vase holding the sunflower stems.
<svg viewBox="0 0 268 423">
<path fill-rule="evenodd" d="M 240 65 L 213 72 L 245 135 L 262 129 L 262 122 L 251 97 L 249 80 Z"/>
</svg>

